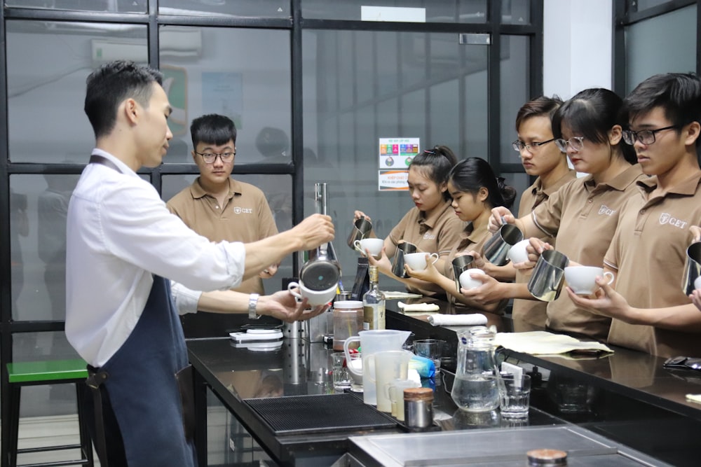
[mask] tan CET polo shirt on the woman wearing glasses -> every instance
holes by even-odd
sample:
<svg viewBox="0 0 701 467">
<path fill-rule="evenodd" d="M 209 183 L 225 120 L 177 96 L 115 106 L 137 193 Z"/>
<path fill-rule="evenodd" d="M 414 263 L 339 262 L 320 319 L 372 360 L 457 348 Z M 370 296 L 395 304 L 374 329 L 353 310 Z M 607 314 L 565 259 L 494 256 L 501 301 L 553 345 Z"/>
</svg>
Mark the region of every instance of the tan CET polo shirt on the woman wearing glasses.
<svg viewBox="0 0 701 467">
<path fill-rule="evenodd" d="M 632 165 L 608 183 L 591 175 L 563 186 L 533 209 L 533 221 L 545 235 L 557 237 L 557 251 L 586 266 L 604 264 L 623 202 L 637 193 L 635 181 L 646 178 Z M 577 308 L 562 291 L 547 304 L 546 326 L 606 340 L 611 319 Z"/>
</svg>

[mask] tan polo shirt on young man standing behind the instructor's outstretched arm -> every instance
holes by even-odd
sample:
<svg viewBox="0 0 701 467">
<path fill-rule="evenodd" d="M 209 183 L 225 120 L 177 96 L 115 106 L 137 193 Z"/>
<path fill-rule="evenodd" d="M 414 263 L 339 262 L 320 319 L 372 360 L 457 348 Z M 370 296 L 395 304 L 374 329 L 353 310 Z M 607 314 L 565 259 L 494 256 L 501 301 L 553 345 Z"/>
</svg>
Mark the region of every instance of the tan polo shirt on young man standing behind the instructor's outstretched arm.
<svg viewBox="0 0 701 467">
<path fill-rule="evenodd" d="M 168 201 L 170 212 L 192 230 L 212 242 L 256 242 L 278 233 L 266 197 L 250 183 L 229 179 L 229 196 L 224 207 L 200 185 L 197 177 Z M 264 293 L 260 277 L 251 277 L 234 289 L 244 293 Z"/>
</svg>

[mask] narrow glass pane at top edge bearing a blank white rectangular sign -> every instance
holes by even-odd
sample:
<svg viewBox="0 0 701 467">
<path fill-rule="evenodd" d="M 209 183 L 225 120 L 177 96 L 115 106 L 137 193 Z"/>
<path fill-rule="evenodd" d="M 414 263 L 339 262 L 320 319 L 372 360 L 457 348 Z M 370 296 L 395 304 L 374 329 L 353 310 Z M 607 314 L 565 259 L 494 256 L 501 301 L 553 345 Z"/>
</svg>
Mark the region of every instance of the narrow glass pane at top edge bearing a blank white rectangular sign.
<svg viewBox="0 0 701 467">
<path fill-rule="evenodd" d="M 301 0 L 304 18 L 322 20 L 361 20 L 361 9 L 365 7 L 389 7 L 381 11 L 379 18 L 395 21 L 401 11 L 392 8 L 420 8 L 426 22 L 486 22 L 486 0 Z M 366 13 L 367 14 L 367 13 Z M 372 18 L 378 18 L 376 14 Z"/>
</svg>

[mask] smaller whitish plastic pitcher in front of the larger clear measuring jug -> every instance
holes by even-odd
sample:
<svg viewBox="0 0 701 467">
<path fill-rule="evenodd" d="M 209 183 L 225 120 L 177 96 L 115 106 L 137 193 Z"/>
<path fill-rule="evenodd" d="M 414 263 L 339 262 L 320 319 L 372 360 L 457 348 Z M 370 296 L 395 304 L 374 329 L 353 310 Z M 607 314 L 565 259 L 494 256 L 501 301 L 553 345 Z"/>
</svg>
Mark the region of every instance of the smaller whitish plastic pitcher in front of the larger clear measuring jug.
<svg viewBox="0 0 701 467">
<path fill-rule="evenodd" d="M 367 376 L 375 383 L 377 410 L 380 412 L 392 412 L 390 385 L 395 379 L 407 379 L 412 356 L 414 354 L 408 350 L 383 350 L 367 357 L 368 369 L 371 370 Z"/>
</svg>

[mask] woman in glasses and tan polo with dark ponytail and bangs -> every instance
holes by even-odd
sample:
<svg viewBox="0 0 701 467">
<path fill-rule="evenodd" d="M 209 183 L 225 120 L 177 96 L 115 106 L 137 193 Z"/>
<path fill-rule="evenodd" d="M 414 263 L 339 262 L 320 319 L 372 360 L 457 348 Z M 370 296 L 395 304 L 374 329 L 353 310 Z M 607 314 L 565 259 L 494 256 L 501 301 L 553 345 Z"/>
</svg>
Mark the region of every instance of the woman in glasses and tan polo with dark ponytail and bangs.
<svg viewBox="0 0 701 467">
<path fill-rule="evenodd" d="M 557 251 L 571 264 L 601 265 L 620 207 L 635 193 L 635 181 L 644 178 L 632 148 L 622 142 L 620 97 L 610 90 L 583 90 L 552 116 L 555 143 L 566 152 L 577 172 L 590 174 L 563 186 L 539 204 L 529 216 L 514 218 L 504 208 L 492 211 L 489 230 L 496 231 L 502 216 L 531 238 L 538 252 L 552 246 L 540 242 L 543 234 L 557 237 Z M 526 263 L 529 266 L 534 262 Z M 530 298 L 526 284 L 512 298 Z M 546 326 L 605 340 L 611 319 L 578 308 L 566 293 L 547 304 Z"/>
</svg>

